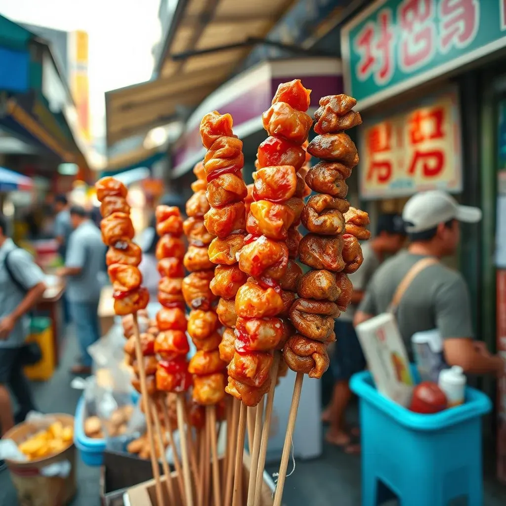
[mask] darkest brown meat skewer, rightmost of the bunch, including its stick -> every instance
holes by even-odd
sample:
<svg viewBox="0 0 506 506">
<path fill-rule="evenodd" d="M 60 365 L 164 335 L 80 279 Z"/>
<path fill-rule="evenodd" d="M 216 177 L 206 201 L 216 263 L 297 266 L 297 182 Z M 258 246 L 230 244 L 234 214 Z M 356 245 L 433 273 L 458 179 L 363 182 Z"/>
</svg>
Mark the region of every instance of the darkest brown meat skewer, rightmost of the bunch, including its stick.
<svg viewBox="0 0 506 506">
<path fill-rule="evenodd" d="M 283 348 L 288 367 L 297 372 L 285 435 L 274 506 L 280 506 L 288 467 L 304 374 L 320 378 L 327 370 L 327 346 L 335 341 L 334 319 L 350 303 L 352 285 L 347 274 L 355 272 L 363 258 L 358 239 L 368 239 L 367 213 L 351 208 L 345 200 L 346 178 L 358 164 L 353 141 L 343 131 L 362 122 L 353 110 L 356 100 L 346 95 L 320 99 L 315 113 L 315 133 L 309 154 L 321 158 L 306 175 L 307 185 L 318 192 L 309 198 L 301 215 L 308 229 L 299 244 L 299 256 L 312 270 L 298 281 L 299 299 L 289 315 L 297 333 Z"/>
</svg>

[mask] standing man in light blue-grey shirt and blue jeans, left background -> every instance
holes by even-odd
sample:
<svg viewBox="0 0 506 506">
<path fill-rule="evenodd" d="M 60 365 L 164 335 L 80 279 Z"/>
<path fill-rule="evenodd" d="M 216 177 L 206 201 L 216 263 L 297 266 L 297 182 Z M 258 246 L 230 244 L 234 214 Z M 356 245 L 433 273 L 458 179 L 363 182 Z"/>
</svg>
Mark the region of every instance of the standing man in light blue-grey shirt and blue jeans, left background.
<svg viewBox="0 0 506 506">
<path fill-rule="evenodd" d="M 75 325 L 81 357 L 73 374 L 89 374 L 92 358 L 88 347 L 100 338 L 98 303 L 102 289 L 105 245 L 100 230 L 81 206 L 69 210 L 73 232 L 67 246 L 65 267 L 58 275 L 66 277 L 69 311 Z"/>
</svg>

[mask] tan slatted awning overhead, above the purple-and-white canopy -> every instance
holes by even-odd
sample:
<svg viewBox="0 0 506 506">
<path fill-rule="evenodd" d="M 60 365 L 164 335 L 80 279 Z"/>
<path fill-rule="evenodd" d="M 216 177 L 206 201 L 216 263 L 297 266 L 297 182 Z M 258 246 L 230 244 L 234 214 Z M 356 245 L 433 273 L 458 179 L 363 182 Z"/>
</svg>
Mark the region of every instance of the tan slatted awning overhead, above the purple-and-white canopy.
<svg viewBox="0 0 506 506">
<path fill-rule="evenodd" d="M 294 0 L 179 0 L 158 78 L 107 92 L 107 144 L 178 118 L 234 71 Z"/>
</svg>

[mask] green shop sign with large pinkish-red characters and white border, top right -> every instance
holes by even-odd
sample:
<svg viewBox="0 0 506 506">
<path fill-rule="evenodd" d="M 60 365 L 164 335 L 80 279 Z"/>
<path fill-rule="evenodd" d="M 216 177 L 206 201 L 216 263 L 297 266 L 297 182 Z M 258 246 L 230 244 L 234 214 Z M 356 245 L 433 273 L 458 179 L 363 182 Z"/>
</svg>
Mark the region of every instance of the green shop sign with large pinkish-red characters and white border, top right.
<svg viewBox="0 0 506 506">
<path fill-rule="evenodd" d="M 506 46 L 506 0 L 377 0 L 341 32 L 347 93 L 359 107 Z"/>
</svg>

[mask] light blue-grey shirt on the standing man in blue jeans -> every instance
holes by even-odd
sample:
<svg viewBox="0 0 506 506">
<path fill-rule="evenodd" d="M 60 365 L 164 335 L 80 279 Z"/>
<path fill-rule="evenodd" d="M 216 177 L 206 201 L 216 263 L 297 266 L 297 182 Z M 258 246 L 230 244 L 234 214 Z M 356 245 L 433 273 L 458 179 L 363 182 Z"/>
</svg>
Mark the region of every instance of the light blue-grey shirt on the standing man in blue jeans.
<svg viewBox="0 0 506 506">
<path fill-rule="evenodd" d="M 80 267 L 77 276 L 67 277 L 66 293 L 71 302 L 97 302 L 100 299 L 105 259 L 105 245 L 100 230 L 93 222 L 82 222 L 68 241 L 67 267 Z"/>
</svg>

